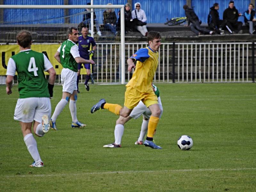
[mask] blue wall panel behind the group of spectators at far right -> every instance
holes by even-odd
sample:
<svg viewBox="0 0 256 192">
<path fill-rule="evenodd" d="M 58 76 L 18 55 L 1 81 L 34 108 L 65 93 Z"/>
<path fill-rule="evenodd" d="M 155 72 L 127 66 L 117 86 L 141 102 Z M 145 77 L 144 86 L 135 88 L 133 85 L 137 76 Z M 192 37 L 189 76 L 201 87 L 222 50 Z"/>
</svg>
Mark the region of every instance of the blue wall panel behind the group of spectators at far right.
<svg viewBox="0 0 256 192">
<path fill-rule="evenodd" d="M 212 7 L 214 3 L 218 3 L 220 6 L 220 19 L 223 19 L 223 12 L 228 8 L 229 1 L 230 0 L 191 0 L 191 4 L 194 6 L 194 11 L 196 12 L 196 15 L 199 17 L 199 19 L 202 20 L 203 23 L 207 23 L 210 7 Z M 251 0 L 236 0 L 234 2 L 238 12 L 243 14 L 248 9 L 248 5 L 251 3 Z M 244 22 L 244 17 L 239 17 L 238 20 Z"/>
</svg>

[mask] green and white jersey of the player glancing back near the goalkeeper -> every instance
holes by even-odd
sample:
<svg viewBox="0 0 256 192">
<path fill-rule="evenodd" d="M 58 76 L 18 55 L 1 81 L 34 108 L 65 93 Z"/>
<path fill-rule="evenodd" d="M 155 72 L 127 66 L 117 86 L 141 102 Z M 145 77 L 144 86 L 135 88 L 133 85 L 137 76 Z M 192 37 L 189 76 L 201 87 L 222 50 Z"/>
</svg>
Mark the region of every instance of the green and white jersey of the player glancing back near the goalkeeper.
<svg viewBox="0 0 256 192">
<path fill-rule="evenodd" d="M 68 39 L 60 45 L 57 51 L 60 52 L 60 63 L 62 67 L 77 72 L 77 63 L 74 58 L 80 57 L 78 46 Z"/>
</svg>

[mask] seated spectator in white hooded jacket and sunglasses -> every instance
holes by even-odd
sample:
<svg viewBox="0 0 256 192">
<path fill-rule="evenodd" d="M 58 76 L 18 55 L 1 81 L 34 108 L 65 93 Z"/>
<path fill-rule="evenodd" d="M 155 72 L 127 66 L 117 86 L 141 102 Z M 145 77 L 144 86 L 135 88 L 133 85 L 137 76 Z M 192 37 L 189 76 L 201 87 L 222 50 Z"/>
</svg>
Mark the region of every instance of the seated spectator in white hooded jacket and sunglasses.
<svg viewBox="0 0 256 192">
<path fill-rule="evenodd" d="M 148 35 L 148 29 L 147 29 L 147 16 L 145 12 L 140 9 L 141 5 L 139 2 L 134 4 L 135 10 L 132 11 L 132 19 L 136 20 L 135 28 L 140 31 L 140 33 L 143 36 Z"/>
</svg>

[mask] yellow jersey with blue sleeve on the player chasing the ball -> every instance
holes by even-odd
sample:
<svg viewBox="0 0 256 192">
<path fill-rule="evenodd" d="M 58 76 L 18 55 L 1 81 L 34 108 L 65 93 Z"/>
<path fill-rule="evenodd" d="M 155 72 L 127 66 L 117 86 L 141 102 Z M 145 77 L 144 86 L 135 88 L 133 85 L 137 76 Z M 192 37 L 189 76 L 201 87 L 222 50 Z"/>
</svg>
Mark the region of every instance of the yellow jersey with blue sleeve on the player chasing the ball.
<svg viewBox="0 0 256 192">
<path fill-rule="evenodd" d="M 151 83 L 158 66 L 158 52 L 154 52 L 150 47 L 141 48 L 130 58 L 137 62 L 132 78 L 126 86 L 142 93 L 152 92 Z"/>
</svg>

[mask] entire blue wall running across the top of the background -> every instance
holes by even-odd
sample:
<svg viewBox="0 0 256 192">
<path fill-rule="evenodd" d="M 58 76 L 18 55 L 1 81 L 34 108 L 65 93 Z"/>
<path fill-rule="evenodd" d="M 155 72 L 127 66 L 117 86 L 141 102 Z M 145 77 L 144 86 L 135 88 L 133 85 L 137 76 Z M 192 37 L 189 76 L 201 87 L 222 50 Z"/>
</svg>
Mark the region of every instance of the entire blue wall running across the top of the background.
<svg viewBox="0 0 256 192">
<path fill-rule="evenodd" d="M 87 4 L 90 0 L 69 0 L 70 5 Z M 125 4 L 127 0 L 94 0 L 94 4 Z M 132 0 L 132 10 L 134 10 L 134 3 L 137 0 Z M 143 9 L 147 15 L 148 23 L 164 23 L 166 18 L 185 16 L 183 5 L 186 4 L 186 0 L 140 0 L 141 9 Z M 220 4 L 220 19 L 223 17 L 224 10 L 228 7 L 229 0 L 191 0 L 192 6 L 198 17 L 207 23 L 207 16 L 210 11 L 210 7 L 217 2 Z M 236 0 L 235 6 L 239 12 L 244 13 L 247 10 L 251 0 Z M 63 0 L 4 0 L 4 4 L 38 4 L 38 5 L 62 5 Z M 77 16 L 70 17 L 70 23 L 79 23 L 83 19 L 82 14 L 84 9 L 70 9 L 69 15 L 77 14 Z M 118 17 L 118 9 L 116 16 Z M 103 23 L 103 10 L 96 11 L 96 17 L 99 23 Z M 63 23 L 64 11 L 62 9 L 4 9 L 4 21 L 5 23 L 13 24 L 36 24 L 36 23 Z M 55 18 L 55 19 L 54 19 Z M 240 21 L 244 22 L 244 18 L 240 17 Z"/>
</svg>

